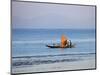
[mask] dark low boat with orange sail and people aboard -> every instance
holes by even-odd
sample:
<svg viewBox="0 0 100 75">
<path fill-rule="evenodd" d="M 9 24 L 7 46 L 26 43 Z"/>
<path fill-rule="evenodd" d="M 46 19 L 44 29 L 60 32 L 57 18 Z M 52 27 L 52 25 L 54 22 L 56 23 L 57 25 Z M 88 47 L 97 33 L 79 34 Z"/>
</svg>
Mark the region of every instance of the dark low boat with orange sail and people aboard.
<svg viewBox="0 0 100 75">
<path fill-rule="evenodd" d="M 61 43 L 58 44 L 53 44 L 53 45 L 46 45 L 49 48 L 73 48 L 75 47 L 75 44 L 72 44 L 71 40 L 68 40 L 67 37 L 64 35 L 61 36 Z"/>
</svg>

